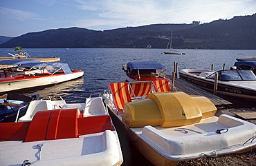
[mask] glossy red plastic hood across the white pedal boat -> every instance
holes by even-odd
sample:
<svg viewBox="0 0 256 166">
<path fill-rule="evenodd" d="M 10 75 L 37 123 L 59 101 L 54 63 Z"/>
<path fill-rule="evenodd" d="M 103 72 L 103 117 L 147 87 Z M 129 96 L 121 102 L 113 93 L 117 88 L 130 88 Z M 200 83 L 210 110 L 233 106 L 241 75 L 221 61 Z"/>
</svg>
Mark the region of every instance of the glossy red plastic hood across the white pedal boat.
<svg viewBox="0 0 256 166">
<path fill-rule="evenodd" d="M 39 111 L 31 122 L 0 123 L 0 141 L 44 141 L 77 138 L 115 130 L 109 115 L 80 118 L 80 110 Z"/>
</svg>

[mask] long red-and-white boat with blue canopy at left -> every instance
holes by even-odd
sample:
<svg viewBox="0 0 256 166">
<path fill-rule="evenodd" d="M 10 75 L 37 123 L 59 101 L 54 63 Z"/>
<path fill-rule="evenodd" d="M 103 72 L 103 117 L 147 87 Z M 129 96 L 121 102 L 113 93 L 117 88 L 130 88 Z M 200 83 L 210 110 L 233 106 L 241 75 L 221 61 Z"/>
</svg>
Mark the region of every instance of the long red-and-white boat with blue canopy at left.
<svg viewBox="0 0 256 166">
<path fill-rule="evenodd" d="M 15 60 L 17 59 L 9 60 L 12 68 L 6 68 L 1 73 L 0 93 L 54 85 L 77 79 L 84 74 L 81 70 L 71 70 L 67 63 L 42 63 L 37 61 L 19 65 L 15 63 L 13 65 Z M 6 61 L 4 63 L 0 61 L 1 64 L 6 65 Z"/>
</svg>

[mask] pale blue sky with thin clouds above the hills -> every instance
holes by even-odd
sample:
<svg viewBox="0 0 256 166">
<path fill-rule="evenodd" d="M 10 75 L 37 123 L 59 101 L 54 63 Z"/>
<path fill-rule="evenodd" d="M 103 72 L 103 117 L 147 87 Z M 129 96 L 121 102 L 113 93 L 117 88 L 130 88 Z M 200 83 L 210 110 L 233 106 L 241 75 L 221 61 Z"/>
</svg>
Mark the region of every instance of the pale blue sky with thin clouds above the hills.
<svg viewBox="0 0 256 166">
<path fill-rule="evenodd" d="M 255 13 L 256 0 L 0 0 L 0 36 L 71 27 L 210 23 Z"/>
</svg>

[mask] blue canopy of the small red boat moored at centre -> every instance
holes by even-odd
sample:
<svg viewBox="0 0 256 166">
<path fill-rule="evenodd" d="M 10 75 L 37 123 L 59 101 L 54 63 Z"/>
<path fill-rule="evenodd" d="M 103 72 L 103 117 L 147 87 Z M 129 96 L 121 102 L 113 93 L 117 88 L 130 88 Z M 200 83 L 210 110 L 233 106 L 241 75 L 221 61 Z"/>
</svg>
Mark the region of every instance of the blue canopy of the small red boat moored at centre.
<svg viewBox="0 0 256 166">
<path fill-rule="evenodd" d="M 131 70 L 143 70 L 143 69 L 162 69 L 165 70 L 165 67 L 161 63 L 155 61 L 139 61 L 139 62 L 129 62 L 127 63 L 127 68 Z"/>
</svg>

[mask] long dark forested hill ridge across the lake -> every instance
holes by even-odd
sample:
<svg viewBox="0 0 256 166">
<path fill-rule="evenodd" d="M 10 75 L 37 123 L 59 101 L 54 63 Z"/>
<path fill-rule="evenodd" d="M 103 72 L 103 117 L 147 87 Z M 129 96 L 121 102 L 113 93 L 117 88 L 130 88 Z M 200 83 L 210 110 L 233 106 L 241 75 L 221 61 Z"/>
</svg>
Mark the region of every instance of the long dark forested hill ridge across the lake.
<svg viewBox="0 0 256 166">
<path fill-rule="evenodd" d="M 256 49 L 256 14 L 199 24 L 154 24 L 96 31 L 61 28 L 30 32 L 2 43 L 0 48 L 165 48 L 173 30 L 172 47 Z"/>
</svg>

